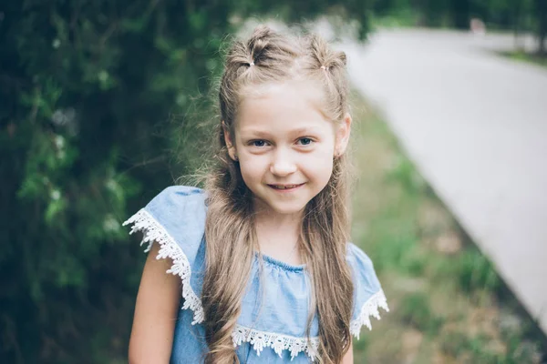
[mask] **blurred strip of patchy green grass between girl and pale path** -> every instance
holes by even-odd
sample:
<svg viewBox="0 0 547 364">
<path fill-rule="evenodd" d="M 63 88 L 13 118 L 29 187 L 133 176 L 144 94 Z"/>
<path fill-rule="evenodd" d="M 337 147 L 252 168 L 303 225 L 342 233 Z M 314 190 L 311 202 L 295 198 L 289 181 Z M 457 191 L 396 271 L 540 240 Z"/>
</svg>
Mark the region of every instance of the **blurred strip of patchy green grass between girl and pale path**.
<svg viewBox="0 0 547 364">
<path fill-rule="evenodd" d="M 354 95 L 353 238 L 391 312 L 355 342 L 356 363 L 540 363 L 545 337 L 387 124 Z M 358 207 L 358 208 L 357 208 Z"/>
</svg>

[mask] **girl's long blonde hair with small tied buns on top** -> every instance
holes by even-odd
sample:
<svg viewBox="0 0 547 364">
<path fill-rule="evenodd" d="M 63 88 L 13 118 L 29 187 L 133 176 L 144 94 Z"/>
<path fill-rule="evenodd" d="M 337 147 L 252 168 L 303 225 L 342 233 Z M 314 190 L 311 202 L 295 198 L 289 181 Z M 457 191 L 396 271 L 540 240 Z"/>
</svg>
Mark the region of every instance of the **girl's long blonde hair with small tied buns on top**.
<svg viewBox="0 0 547 364">
<path fill-rule="evenodd" d="M 340 122 L 348 111 L 346 55 L 331 50 L 318 35 L 293 37 L 258 26 L 246 41 L 235 41 L 226 57 L 219 101 L 222 121 L 234 134 L 238 106 L 249 87 L 287 80 L 316 81 L 325 90 L 325 115 Z M 232 330 L 240 315 L 254 251 L 260 251 L 254 230 L 251 191 L 239 165 L 228 155 L 224 131 L 217 125 L 220 145 L 206 180 L 208 212 L 205 226 L 206 273 L 202 303 L 205 313 L 207 363 L 239 362 Z M 349 238 L 347 160 L 336 157 L 327 186 L 305 207 L 300 252 L 312 282 L 312 306 L 307 318 L 319 320 L 318 359 L 339 363 L 350 343 L 353 282 L 346 262 Z M 234 259 L 237 257 L 237 259 Z"/>
</svg>

